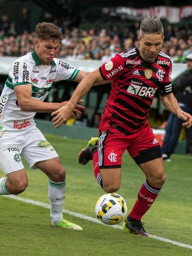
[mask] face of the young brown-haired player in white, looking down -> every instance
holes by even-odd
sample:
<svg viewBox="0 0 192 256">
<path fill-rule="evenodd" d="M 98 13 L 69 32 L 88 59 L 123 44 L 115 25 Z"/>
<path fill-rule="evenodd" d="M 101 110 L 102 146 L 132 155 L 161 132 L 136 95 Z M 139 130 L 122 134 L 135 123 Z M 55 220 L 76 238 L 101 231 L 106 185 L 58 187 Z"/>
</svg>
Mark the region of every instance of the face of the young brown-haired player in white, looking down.
<svg viewBox="0 0 192 256">
<path fill-rule="evenodd" d="M 60 41 L 43 40 L 35 38 L 35 52 L 43 65 L 48 65 L 58 51 Z"/>
</svg>

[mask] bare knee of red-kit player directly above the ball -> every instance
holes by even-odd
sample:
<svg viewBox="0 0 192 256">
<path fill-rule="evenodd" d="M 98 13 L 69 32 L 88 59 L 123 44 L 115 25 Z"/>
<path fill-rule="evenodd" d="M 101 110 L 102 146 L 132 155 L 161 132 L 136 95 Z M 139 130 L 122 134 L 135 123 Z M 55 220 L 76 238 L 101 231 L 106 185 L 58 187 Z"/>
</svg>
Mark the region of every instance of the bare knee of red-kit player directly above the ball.
<svg viewBox="0 0 192 256">
<path fill-rule="evenodd" d="M 102 185 L 106 192 L 116 192 L 121 186 L 121 168 L 100 169 Z"/>
</svg>

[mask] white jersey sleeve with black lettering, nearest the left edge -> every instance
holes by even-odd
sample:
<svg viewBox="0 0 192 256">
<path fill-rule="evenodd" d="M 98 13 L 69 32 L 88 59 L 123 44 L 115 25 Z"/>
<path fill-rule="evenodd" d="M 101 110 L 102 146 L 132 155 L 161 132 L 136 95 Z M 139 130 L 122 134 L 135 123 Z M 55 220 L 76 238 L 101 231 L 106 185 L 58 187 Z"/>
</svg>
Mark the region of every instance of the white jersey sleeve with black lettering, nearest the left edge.
<svg viewBox="0 0 192 256">
<path fill-rule="evenodd" d="M 30 84 L 31 83 L 31 74 L 32 71 L 27 64 L 27 61 L 17 60 L 12 65 L 11 75 L 13 87 L 20 84 Z"/>
</svg>

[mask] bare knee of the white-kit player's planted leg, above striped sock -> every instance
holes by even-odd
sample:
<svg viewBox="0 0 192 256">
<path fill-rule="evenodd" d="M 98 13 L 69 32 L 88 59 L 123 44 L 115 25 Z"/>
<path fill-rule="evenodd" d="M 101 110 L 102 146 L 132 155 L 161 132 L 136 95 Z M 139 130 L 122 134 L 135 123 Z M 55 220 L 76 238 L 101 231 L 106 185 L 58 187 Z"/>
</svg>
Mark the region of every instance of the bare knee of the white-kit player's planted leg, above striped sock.
<svg viewBox="0 0 192 256">
<path fill-rule="evenodd" d="M 51 158 L 35 163 L 35 166 L 44 172 L 50 180 L 54 182 L 63 182 L 66 178 L 66 172 L 61 166 L 58 157 Z"/>
</svg>

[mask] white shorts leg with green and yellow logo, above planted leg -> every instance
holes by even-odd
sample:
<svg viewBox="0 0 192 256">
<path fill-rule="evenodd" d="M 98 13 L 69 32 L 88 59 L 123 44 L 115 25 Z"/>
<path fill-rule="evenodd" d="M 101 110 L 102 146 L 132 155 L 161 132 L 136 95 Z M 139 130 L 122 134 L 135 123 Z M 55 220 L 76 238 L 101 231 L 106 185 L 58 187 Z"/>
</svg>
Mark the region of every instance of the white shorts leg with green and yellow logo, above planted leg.
<svg viewBox="0 0 192 256">
<path fill-rule="evenodd" d="M 38 128 L 32 129 L 26 134 L 26 145 L 23 148 L 22 155 L 31 169 L 37 169 L 36 163 L 38 162 L 58 157 L 55 149 Z M 52 165 L 53 167 L 54 165 Z"/>
</svg>

